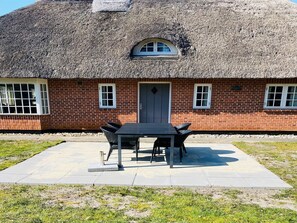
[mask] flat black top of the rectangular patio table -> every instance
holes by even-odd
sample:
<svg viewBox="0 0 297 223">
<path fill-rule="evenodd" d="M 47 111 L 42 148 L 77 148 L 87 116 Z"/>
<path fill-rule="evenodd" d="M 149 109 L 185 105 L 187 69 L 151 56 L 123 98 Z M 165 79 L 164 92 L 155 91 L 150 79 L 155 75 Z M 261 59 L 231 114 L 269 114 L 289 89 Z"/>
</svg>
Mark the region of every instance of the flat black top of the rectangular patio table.
<svg viewBox="0 0 297 223">
<path fill-rule="evenodd" d="M 176 135 L 177 132 L 170 123 L 126 123 L 115 134 L 162 136 Z"/>
</svg>

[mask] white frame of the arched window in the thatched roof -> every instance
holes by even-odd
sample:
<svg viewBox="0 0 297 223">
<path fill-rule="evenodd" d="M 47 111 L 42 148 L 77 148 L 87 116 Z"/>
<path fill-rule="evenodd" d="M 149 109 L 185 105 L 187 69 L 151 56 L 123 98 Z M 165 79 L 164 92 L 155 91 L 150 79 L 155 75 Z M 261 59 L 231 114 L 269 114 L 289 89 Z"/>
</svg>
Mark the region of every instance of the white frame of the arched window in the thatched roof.
<svg viewBox="0 0 297 223">
<path fill-rule="evenodd" d="M 141 52 L 141 49 L 148 43 L 153 43 L 154 50 L 152 52 Z M 158 43 L 163 43 L 170 49 L 170 52 L 158 52 Z M 168 40 L 151 38 L 146 39 L 138 43 L 132 51 L 133 57 L 177 57 L 178 50 L 177 48 Z"/>
</svg>

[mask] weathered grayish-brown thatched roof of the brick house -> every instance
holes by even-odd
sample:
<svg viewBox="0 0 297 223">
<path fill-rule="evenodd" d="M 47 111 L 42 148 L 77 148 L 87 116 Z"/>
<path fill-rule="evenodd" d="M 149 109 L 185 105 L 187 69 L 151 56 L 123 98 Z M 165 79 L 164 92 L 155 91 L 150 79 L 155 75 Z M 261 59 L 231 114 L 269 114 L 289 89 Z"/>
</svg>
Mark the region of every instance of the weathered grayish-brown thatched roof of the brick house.
<svg viewBox="0 0 297 223">
<path fill-rule="evenodd" d="M 297 77 L 297 5 L 289 0 L 37 2 L 0 17 L 0 76 L 41 78 Z M 132 59 L 138 42 L 170 40 L 177 60 Z"/>
</svg>

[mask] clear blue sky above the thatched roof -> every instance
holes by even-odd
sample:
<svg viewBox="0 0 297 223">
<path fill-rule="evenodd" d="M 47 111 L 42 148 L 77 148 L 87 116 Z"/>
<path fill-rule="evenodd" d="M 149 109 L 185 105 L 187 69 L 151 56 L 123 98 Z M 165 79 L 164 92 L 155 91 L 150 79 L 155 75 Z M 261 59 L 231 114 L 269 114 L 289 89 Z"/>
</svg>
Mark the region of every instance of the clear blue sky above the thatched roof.
<svg viewBox="0 0 297 223">
<path fill-rule="evenodd" d="M 296 2 L 297 0 L 291 0 Z M 33 4 L 35 0 L 0 0 L 0 16 L 5 15 L 18 8 Z"/>
</svg>

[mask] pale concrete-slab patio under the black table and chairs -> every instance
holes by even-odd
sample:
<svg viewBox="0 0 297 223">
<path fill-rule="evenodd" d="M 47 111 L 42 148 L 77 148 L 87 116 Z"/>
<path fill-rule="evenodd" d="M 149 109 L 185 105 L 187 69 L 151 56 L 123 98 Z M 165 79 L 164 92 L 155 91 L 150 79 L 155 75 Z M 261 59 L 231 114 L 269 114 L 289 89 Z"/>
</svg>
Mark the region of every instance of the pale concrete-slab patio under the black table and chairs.
<svg viewBox="0 0 297 223">
<path fill-rule="evenodd" d="M 108 143 L 66 142 L 1 171 L 0 183 L 291 188 L 232 144 L 186 143 L 183 163 L 176 149 L 172 169 L 165 150 L 150 163 L 151 147 L 152 143 L 141 143 L 138 162 L 133 150 L 123 150 L 124 170 L 88 172 L 99 151 L 108 152 Z M 109 163 L 116 161 L 114 151 Z"/>
</svg>

